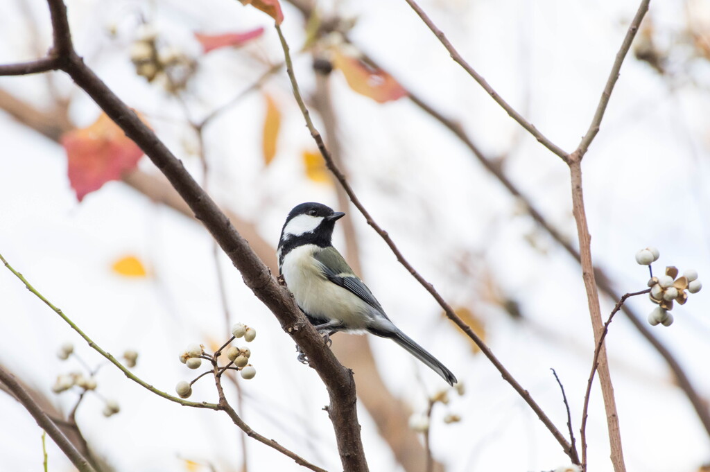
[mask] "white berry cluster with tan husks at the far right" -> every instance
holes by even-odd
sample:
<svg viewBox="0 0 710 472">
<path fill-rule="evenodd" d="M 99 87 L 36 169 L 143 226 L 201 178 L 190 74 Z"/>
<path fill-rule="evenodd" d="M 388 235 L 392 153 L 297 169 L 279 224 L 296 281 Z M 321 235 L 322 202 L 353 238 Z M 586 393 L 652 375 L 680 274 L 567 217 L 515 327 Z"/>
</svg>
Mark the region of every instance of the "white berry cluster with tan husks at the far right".
<svg viewBox="0 0 710 472">
<path fill-rule="evenodd" d="M 656 248 L 641 249 L 636 253 L 636 262 L 640 265 L 648 265 L 650 268 L 651 263 L 655 262 L 659 256 L 660 253 Z M 652 326 L 657 324 L 670 326 L 673 324 L 673 315 L 670 314 L 670 310 L 673 309 L 673 302 L 685 304 L 688 300 L 686 290 L 689 293 L 697 293 L 703 287 L 700 280 L 698 280 L 697 270 L 686 270 L 681 277 L 677 278 L 678 273 L 678 269 L 670 265 L 666 268 L 665 275 L 660 275 L 660 277 L 652 276 L 648 280 L 648 287 L 651 289 L 649 293 L 650 300 L 658 305 L 648 315 L 648 322 Z"/>
</svg>

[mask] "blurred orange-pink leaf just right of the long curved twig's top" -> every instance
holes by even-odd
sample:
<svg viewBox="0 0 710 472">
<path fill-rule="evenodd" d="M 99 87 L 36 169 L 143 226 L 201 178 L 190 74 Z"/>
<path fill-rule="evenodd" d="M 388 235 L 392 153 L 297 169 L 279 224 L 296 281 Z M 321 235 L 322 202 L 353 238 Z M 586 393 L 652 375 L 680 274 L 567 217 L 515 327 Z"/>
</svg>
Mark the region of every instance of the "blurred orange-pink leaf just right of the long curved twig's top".
<svg viewBox="0 0 710 472">
<path fill-rule="evenodd" d="M 336 51 L 333 65 L 343 72 L 351 89 L 378 103 L 400 99 L 407 94 L 394 77 L 356 57 Z"/>
</svg>

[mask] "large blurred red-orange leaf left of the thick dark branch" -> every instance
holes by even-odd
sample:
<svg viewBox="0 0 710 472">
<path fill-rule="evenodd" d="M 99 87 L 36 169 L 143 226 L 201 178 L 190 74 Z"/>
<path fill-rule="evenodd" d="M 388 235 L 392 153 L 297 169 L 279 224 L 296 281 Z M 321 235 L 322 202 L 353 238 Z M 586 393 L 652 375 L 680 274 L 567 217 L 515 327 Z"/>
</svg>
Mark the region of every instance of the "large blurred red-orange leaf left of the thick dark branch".
<svg viewBox="0 0 710 472">
<path fill-rule="evenodd" d="M 104 113 L 88 128 L 64 133 L 61 142 L 67 152 L 69 182 L 80 202 L 89 192 L 136 168 L 143 155 Z"/>
</svg>

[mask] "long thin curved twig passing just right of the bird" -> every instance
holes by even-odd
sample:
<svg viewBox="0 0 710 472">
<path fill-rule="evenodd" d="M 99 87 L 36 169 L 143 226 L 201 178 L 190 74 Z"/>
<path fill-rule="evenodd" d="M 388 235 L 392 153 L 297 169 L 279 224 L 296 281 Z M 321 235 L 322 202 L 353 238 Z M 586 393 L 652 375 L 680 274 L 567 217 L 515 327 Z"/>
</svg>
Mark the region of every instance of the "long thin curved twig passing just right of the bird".
<svg viewBox="0 0 710 472">
<path fill-rule="evenodd" d="M 323 159 L 325 160 L 325 163 L 327 165 L 327 168 L 333 173 L 333 175 L 336 177 L 340 185 L 344 188 L 348 196 L 350 197 L 351 202 L 355 205 L 355 207 L 361 212 L 361 214 L 365 217 L 367 224 L 372 226 L 372 228 L 383 238 L 383 240 L 387 243 L 387 245 L 390 247 L 391 251 L 395 254 L 397 257 L 397 260 L 407 268 L 409 273 L 413 275 L 413 277 L 420 282 L 420 284 L 425 287 L 425 289 L 430 292 L 432 297 L 437 300 L 439 305 L 444 309 L 444 312 L 446 313 L 447 317 L 451 319 L 459 328 L 461 331 L 464 331 L 469 338 L 471 338 L 474 343 L 476 343 L 476 346 L 479 346 L 481 348 L 481 352 L 484 353 L 484 355 L 488 358 L 491 363 L 493 363 L 493 366 L 498 369 L 498 371 L 503 375 L 503 379 L 505 379 L 510 385 L 513 386 L 516 392 L 518 392 L 518 395 L 523 397 L 523 400 L 530 405 L 532 410 L 535 412 L 537 417 L 540 418 L 540 421 L 542 421 L 543 424 L 547 427 L 547 429 L 550 430 L 552 435 L 557 439 L 557 442 L 562 446 L 562 449 L 564 449 L 565 454 L 569 454 L 569 443 L 567 442 L 567 439 L 565 439 L 564 434 L 562 432 L 559 432 L 559 429 L 555 427 L 555 424 L 552 423 L 552 420 L 550 420 L 547 415 L 545 415 L 545 412 L 542 411 L 542 408 L 540 408 L 540 405 L 537 405 L 537 402 L 535 400 L 532 400 L 532 397 L 530 396 L 530 393 L 528 390 L 525 390 L 520 383 L 518 383 L 515 378 L 513 378 L 513 375 L 510 375 L 508 370 L 503 366 L 501 361 L 496 358 L 495 355 L 493 355 L 493 351 L 491 351 L 491 348 L 488 348 L 488 346 L 484 343 L 484 341 L 471 329 L 471 326 L 467 325 L 459 316 L 454 312 L 454 309 L 452 309 L 451 306 L 444 300 L 444 298 L 439 295 L 439 292 L 435 290 L 434 286 L 425 280 L 425 278 L 420 275 L 417 270 L 413 268 L 412 265 L 404 258 L 402 253 L 399 251 L 397 246 L 395 245 L 394 241 L 392 241 L 392 238 L 389 237 L 387 234 L 387 231 L 384 231 L 377 223 L 374 221 L 372 216 L 369 214 L 367 209 L 361 204 L 360 200 L 356 196 L 355 192 L 352 190 L 352 187 L 350 184 L 347 182 L 345 179 L 345 176 L 340 172 L 339 168 L 334 164 L 332 160 L 332 156 L 329 153 L 329 150 L 326 148 L 325 143 L 323 142 L 323 138 L 320 136 L 320 133 L 318 130 L 315 128 L 313 125 L 312 120 L 310 119 L 310 113 L 305 106 L 305 102 L 303 101 L 301 94 L 300 94 L 300 89 L 298 88 L 298 83 L 296 82 L 295 75 L 293 72 L 293 65 L 290 59 L 290 53 L 288 49 L 288 43 L 286 43 L 286 40 L 283 36 L 283 33 L 281 32 L 280 27 L 277 25 L 275 26 L 276 31 L 278 32 L 279 38 L 281 40 L 281 45 L 284 50 L 284 54 L 286 57 L 286 71 L 288 72 L 288 76 L 291 81 L 291 86 L 293 87 L 293 95 L 298 103 L 298 106 L 301 109 L 301 113 L 303 114 L 303 117 L 306 121 L 306 126 L 308 127 L 308 130 L 310 131 L 310 134 L 312 138 L 315 140 L 316 145 L 318 146 L 318 149 L 320 150 L 321 155 L 323 156 Z"/>
</svg>

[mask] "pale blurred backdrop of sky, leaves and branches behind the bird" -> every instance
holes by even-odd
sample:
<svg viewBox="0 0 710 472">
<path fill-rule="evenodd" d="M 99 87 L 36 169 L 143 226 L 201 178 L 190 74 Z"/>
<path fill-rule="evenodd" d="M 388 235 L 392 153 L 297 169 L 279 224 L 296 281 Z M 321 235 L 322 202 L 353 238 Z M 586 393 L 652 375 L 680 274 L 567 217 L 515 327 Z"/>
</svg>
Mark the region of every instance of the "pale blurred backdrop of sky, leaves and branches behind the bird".
<svg viewBox="0 0 710 472">
<path fill-rule="evenodd" d="M 627 0 L 421 5 L 497 92 L 568 152 L 589 127 L 638 8 Z M 325 170 L 293 99 L 273 18 L 224 0 L 67 7 L 87 65 L 150 124 L 274 273 L 280 229 L 295 204 L 346 212 L 335 245 L 391 319 L 464 385 L 447 388 L 385 339 L 333 336 L 337 356 L 354 370 L 372 470 L 425 470 L 415 429 L 444 391 L 446 404 L 436 402 L 429 419 L 435 470 L 550 471 L 569 463 Z M 404 1 L 283 1 L 282 9 L 307 105 L 361 202 L 566 433 L 555 368 L 579 441 L 594 341 L 581 269 L 564 247 L 577 248 L 567 165 L 450 59 Z M 51 44 L 45 2 L 1 2 L 0 38 L 0 63 L 41 57 Z M 646 288 L 648 269 L 634 260 L 646 246 L 660 250 L 657 275 L 666 265 L 695 269 L 701 280 L 710 274 L 709 60 L 708 3 L 651 4 L 583 164 L 594 262 L 617 294 Z M 0 77 L 0 109 L 0 253 L 9 263 L 104 349 L 136 350 L 133 372 L 169 393 L 200 372 L 178 361 L 187 344 L 214 349 L 232 323 L 253 326 L 257 374 L 237 379 L 239 388 L 228 383 L 229 399 L 257 432 L 341 470 L 320 379 L 297 362 L 293 341 L 150 160 L 133 155 L 62 73 Z M 605 319 L 615 303 L 602 292 Z M 691 295 L 674 308 L 670 327 L 645 321 L 655 307 L 648 297 L 627 304 L 687 375 L 701 410 L 619 314 L 606 344 L 628 469 L 705 470 L 710 302 L 705 292 Z M 0 323 L 0 365 L 57 417 L 80 394 L 53 393 L 58 375 L 102 366 L 76 423 L 105 471 L 302 470 L 243 440 L 226 415 L 180 407 L 104 366 L 6 270 Z M 77 355 L 62 361 L 55 352 L 66 342 Z M 217 401 L 209 378 L 193 390 L 190 400 Z M 119 403 L 119 414 L 102 415 L 106 400 Z M 38 470 L 41 430 L 2 392 L 0 412 L 0 468 Z M 590 470 L 611 470 L 598 384 L 589 415 Z M 49 439 L 48 459 L 52 471 L 72 470 Z"/>
</svg>

